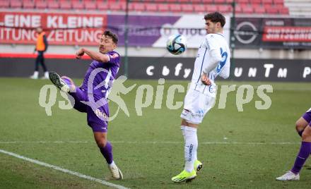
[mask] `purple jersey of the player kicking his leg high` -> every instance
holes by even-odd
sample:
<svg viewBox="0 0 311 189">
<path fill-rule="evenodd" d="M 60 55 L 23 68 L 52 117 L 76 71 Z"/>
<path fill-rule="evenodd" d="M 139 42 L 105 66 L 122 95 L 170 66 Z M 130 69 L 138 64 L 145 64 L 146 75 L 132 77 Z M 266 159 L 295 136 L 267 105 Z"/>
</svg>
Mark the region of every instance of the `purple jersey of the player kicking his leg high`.
<svg viewBox="0 0 311 189">
<path fill-rule="evenodd" d="M 99 61 L 93 61 L 86 71 L 81 89 L 88 93 L 99 94 L 102 97 L 107 98 L 109 91 L 112 87 L 112 82 L 117 77 L 117 73 L 120 67 L 120 56 L 116 51 L 110 51 L 107 53 L 109 61 L 102 63 Z M 98 69 L 99 68 L 99 69 Z M 92 86 L 88 86 L 90 80 Z M 88 88 L 92 87 L 93 91 L 88 91 Z M 98 87 L 98 88 L 96 88 Z"/>
</svg>

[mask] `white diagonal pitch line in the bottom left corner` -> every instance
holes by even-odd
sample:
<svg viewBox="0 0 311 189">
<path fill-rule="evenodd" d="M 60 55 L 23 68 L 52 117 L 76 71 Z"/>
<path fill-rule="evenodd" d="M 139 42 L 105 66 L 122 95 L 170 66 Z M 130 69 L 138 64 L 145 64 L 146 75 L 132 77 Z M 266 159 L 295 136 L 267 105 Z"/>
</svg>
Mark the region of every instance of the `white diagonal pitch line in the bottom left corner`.
<svg viewBox="0 0 311 189">
<path fill-rule="evenodd" d="M 86 178 L 89 181 L 95 181 L 95 182 L 98 182 L 98 183 L 101 183 L 103 185 L 107 185 L 107 186 L 110 186 L 110 187 L 113 187 L 113 188 L 128 189 L 128 188 L 124 187 L 123 185 L 117 185 L 117 184 L 114 184 L 114 183 L 109 183 L 107 181 L 103 181 L 103 180 L 100 180 L 98 178 L 94 178 L 92 176 L 87 176 L 87 175 L 84 175 L 82 173 L 78 173 L 78 172 L 75 172 L 75 171 L 70 171 L 68 169 L 63 169 L 63 168 L 61 168 L 59 166 L 54 166 L 54 165 L 47 164 L 47 163 L 42 162 L 42 161 L 37 161 L 35 159 L 30 159 L 28 157 L 23 157 L 23 156 L 21 156 L 19 154 L 15 154 L 13 152 L 7 152 L 7 151 L 1 150 L 1 149 L 0 149 L 0 152 L 4 153 L 4 154 L 8 154 L 8 155 L 13 156 L 13 157 L 17 157 L 18 159 L 23 159 L 25 161 L 30 161 L 31 163 L 34 163 L 34 164 L 39 164 L 41 166 L 46 166 L 46 167 L 49 167 L 49 168 L 52 168 L 52 169 L 56 169 L 57 171 L 61 171 L 61 172 L 64 172 L 64 173 L 69 173 L 71 175 L 78 176 L 80 178 Z"/>
</svg>

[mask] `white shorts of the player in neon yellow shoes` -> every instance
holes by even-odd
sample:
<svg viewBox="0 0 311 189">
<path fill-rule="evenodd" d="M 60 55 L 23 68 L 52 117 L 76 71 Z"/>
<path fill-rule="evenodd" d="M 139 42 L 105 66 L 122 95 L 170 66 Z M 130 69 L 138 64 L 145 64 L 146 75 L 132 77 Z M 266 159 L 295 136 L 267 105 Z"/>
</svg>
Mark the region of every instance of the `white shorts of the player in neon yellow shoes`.
<svg viewBox="0 0 311 189">
<path fill-rule="evenodd" d="M 215 105 L 216 95 L 204 94 L 196 88 L 195 84 L 190 85 L 184 97 L 184 109 L 180 117 L 189 123 L 199 124 L 205 114 Z"/>
</svg>

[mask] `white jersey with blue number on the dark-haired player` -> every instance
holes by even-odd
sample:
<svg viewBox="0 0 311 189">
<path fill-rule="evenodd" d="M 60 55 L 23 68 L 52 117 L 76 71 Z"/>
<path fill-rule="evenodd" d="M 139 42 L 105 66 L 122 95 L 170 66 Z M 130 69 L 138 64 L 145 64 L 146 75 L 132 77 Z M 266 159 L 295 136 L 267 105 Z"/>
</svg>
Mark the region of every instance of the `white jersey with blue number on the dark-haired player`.
<svg viewBox="0 0 311 189">
<path fill-rule="evenodd" d="M 219 51 L 222 60 L 218 63 L 218 66 L 215 69 L 208 73 L 212 85 L 206 87 L 206 85 L 201 83 L 201 73 L 203 68 L 209 65 L 209 60 L 211 59 L 210 51 L 213 49 Z M 214 80 L 218 75 L 222 78 L 228 78 L 230 75 L 230 49 L 225 37 L 221 33 L 208 34 L 199 47 L 196 61 L 194 63 L 192 85 L 198 85 L 194 86 L 194 90 L 199 90 L 203 93 L 207 93 L 209 96 L 215 97 L 216 84 L 214 83 Z"/>
</svg>

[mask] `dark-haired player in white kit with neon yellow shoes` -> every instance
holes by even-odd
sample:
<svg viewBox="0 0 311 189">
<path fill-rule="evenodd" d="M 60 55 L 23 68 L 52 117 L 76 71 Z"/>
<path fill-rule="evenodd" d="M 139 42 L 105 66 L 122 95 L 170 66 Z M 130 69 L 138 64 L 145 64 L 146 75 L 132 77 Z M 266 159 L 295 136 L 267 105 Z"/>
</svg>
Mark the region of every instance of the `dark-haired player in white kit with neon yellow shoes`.
<svg viewBox="0 0 311 189">
<path fill-rule="evenodd" d="M 218 12 L 204 16 L 207 35 L 199 47 L 194 73 L 189 90 L 184 97 L 184 109 L 181 114 L 181 130 L 184 135 L 184 170 L 172 181 L 189 182 L 196 178 L 196 172 L 203 164 L 196 157 L 198 139 L 196 130 L 205 114 L 213 107 L 216 99 L 215 78 L 230 75 L 230 50 L 223 36 L 225 17 Z"/>
</svg>

